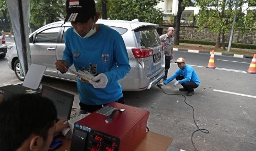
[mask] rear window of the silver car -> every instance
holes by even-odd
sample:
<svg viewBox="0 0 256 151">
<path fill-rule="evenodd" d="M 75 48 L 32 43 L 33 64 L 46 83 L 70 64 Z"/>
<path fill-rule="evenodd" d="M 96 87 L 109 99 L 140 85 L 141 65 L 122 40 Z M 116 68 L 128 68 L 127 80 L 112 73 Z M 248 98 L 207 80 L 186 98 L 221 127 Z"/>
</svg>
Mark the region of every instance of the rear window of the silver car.
<svg viewBox="0 0 256 151">
<path fill-rule="evenodd" d="M 141 27 L 134 31 L 139 48 L 154 47 L 161 43 L 155 27 Z"/>
</svg>

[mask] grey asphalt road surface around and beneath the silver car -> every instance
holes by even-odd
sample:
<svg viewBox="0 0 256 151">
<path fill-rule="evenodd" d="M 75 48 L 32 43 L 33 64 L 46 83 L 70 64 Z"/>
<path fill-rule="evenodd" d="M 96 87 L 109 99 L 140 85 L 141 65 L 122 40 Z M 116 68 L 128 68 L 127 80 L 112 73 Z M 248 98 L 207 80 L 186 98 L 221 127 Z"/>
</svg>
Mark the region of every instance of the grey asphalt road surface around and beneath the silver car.
<svg viewBox="0 0 256 151">
<path fill-rule="evenodd" d="M 181 85 L 175 88 L 173 81 L 162 87 L 166 94 L 157 86 L 144 91 L 124 91 L 126 104 L 148 109 L 150 131 L 172 137 L 172 147 L 194 150 L 191 136 L 197 127 L 190 107 L 193 106 L 195 122 L 200 129 L 209 131 L 195 132 L 193 142 L 198 150 L 255 150 L 256 74 L 244 72 L 252 60 L 215 55 L 216 69 L 211 69 L 205 68 L 210 55 L 178 51 L 174 55 L 173 60 L 185 57 L 187 64 L 197 71 L 201 84 L 195 94 L 187 97 L 186 92 L 178 91 Z M 0 68 L 0 86 L 21 83 L 6 59 L 0 60 Z M 172 63 L 169 75 L 177 68 Z M 44 77 L 41 84 L 75 94 L 73 107 L 79 107 L 75 83 Z"/>
</svg>

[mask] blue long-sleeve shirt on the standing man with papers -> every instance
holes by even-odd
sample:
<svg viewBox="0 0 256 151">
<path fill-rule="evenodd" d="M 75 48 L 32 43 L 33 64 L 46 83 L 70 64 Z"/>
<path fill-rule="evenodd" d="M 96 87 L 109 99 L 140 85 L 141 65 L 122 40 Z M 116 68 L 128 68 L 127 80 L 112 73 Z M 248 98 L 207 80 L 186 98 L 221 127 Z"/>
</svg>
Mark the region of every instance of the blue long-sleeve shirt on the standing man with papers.
<svg viewBox="0 0 256 151">
<path fill-rule="evenodd" d="M 103 24 L 92 37 L 81 38 L 70 27 L 65 33 L 66 48 L 63 60 L 68 67 L 73 63 L 76 71 L 106 74 L 108 83 L 104 89 L 95 89 L 90 83 L 77 79 L 79 99 L 84 104 L 99 105 L 117 101 L 123 96 L 118 80 L 130 71 L 129 58 L 122 36 Z"/>
</svg>

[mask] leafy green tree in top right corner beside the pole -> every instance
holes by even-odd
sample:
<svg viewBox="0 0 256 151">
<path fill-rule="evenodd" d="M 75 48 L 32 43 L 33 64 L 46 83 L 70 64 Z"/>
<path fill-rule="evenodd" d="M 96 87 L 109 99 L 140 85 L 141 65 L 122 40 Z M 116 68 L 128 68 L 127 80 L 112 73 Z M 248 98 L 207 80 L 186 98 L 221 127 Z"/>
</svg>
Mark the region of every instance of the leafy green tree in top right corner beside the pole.
<svg viewBox="0 0 256 151">
<path fill-rule="evenodd" d="M 248 1 L 252 4 L 256 3 L 255 0 Z M 246 28 L 250 30 L 253 28 L 253 15 L 249 13 L 249 15 L 244 16 L 242 12 L 242 5 L 248 1 L 198 0 L 196 5 L 200 7 L 198 14 L 199 30 L 208 27 L 208 30 L 218 34 L 215 47 L 220 47 L 220 36 L 222 35 L 222 48 L 225 50 L 225 35 L 232 27 L 236 2 L 238 13 L 234 29 L 245 31 Z"/>
</svg>

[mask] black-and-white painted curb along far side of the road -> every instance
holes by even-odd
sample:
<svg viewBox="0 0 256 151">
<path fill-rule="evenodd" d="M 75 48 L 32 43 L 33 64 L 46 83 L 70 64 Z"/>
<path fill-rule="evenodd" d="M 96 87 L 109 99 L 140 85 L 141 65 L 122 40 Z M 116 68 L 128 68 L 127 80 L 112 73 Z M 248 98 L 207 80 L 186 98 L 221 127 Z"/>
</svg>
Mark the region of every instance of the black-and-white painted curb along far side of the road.
<svg viewBox="0 0 256 151">
<path fill-rule="evenodd" d="M 173 51 L 182 51 L 182 52 L 199 53 L 199 54 L 211 54 L 211 52 L 209 52 L 209 51 L 178 49 L 178 48 L 173 48 Z M 241 58 L 253 59 L 253 55 L 252 56 L 251 55 L 237 55 L 237 54 L 226 54 L 226 53 L 214 53 L 214 55 L 218 55 L 218 56 L 232 56 L 232 57 L 241 57 Z"/>
</svg>

